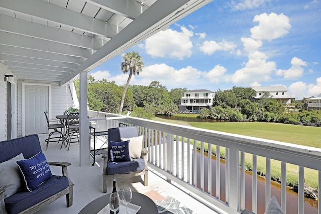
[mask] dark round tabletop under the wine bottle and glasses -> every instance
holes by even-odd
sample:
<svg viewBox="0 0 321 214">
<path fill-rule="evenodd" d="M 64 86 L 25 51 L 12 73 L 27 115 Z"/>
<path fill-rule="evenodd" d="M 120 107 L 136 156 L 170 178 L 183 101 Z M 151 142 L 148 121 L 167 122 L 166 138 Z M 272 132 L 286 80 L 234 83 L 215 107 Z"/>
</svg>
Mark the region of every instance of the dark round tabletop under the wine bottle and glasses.
<svg viewBox="0 0 321 214">
<path fill-rule="evenodd" d="M 118 192 L 121 195 L 121 192 Z M 96 214 L 100 210 L 102 210 L 109 203 L 109 194 L 105 194 L 90 203 L 88 203 L 82 210 L 80 210 L 79 214 Z M 152 201 L 149 197 L 139 192 L 132 192 L 131 202 L 138 206 L 141 206 L 138 210 L 137 214 L 158 214 L 158 209 L 154 201 Z M 121 214 L 121 213 L 119 213 Z"/>
</svg>

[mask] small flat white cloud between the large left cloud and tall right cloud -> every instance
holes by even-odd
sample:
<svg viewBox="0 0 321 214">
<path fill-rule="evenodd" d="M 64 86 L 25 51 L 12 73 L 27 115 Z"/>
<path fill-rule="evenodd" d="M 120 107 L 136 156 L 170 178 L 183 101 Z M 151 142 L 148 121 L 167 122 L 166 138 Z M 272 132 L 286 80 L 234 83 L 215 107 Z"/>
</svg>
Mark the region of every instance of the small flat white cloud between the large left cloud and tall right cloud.
<svg viewBox="0 0 321 214">
<path fill-rule="evenodd" d="M 215 41 L 205 41 L 203 45 L 200 47 L 200 50 L 203 51 L 205 54 L 211 55 L 215 51 L 230 51 L 233 52 L 236 48 L 236 45 L 233 42 L 225 41 L 224 39 L 222 42 L 215 42 Z"/>
</svg>

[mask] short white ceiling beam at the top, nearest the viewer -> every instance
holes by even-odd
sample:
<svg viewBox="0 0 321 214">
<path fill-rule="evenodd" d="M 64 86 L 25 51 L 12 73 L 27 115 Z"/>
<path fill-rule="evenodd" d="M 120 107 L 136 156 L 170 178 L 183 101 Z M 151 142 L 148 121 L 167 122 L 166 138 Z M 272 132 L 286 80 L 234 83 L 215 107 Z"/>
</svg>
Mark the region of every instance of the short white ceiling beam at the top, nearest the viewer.
<svg viewBox="0 0 321 214">
<path fill-rule="evenodd" d="M 86 2 L 131 20 L 141 14 L 141 6 L 134 0 L 87 0 Z"/>
</svg>

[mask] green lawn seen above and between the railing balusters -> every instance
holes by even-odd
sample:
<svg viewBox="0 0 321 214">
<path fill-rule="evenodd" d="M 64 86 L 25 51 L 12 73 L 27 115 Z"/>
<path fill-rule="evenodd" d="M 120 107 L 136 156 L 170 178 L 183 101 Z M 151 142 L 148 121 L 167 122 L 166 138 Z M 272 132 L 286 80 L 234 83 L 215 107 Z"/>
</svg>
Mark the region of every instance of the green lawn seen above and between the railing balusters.
<svg viewBox="0 0 321 214">
<path fill-rule="evenodd" d="M 170 123 L 171 122 L 176 124 L 178 123 L 178 121 L 169 121 L 169 120 L 167 121 Z M 188 122 L 188 123 L 197 128 L 203 128 L 203 129 L 209 129 L 209 130 L 215 130 L 215 131 L 221 131 L 221 132 L 227 132 L 227 133 L 233 133 L 233 134 L 258 137 L 258 138 L 264 138 L 269 140 L 282 141 L 282 142 L 293 143 L 298 145 L 321 148 L 321 144 L 319 143 L 320 142 L 319 133 L 321 131 L 320 127 L 307 127 L 307 126 L 298 126 L 298 125 L 277 124 L 277 123 L 258 123 L 258 122 L 257 123 L 255 122 L 253 123 Z M 207 150 L 207 144 L 204 145 L 204 147 Z M 213 150 L 215 151 L 216 148 L 213 147 Z M 221 157 L 225 157 L 224 148 L 221 148 L 220 155 Z M 252 169 L 251 154 L 245 155 L 245 165 L 248 169 Z M 259 156 L 257 157 L 257 166 L 258 166 L 257 168 L 258 168 L 259 174 L 264 175 L 265 174 L 264 157 L 259 157 Z M 287 184 L 292 186 L 298 182 L 298 166 L 293 164 L 286 164 L 286 167 L 287 167 Z M 271 160 L 271 177 L 273 180 L 277 180 L 277 181 L 281 179 L 280 161 Z M 308 183 L 312 188 L 317 188 L 318 175 L 316 170 L 305 168 L 304 178 L 305 178 L 305 182 Z"/>
</svg>

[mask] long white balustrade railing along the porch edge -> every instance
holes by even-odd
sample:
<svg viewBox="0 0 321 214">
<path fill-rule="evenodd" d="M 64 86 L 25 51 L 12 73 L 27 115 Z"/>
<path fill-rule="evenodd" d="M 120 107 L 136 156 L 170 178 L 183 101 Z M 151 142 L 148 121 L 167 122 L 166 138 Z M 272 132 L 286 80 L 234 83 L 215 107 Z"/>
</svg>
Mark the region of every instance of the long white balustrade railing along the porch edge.
<svg viewBox="0 0 321 214">
<path fill-rule="evenodd" d="M 107 113 L 104 117 L 115 117 Z M 286 164 L 299 167 L 298 173 L 298 213 L 304 213 L 304 168 L 318 171 L 318 185 L 321 185 L 321 149 L 299 146 L 278 141 L 265 140 L 206 129 L 187 127 L 164 122 L 155 122 L 134 117 L 117 120 L 101 120 L 103 128 L 118 127 L 119 123 L 137 126 L 144 137 L 144 147 L 148 149 L 148 166 L 166 176 L 189 191 L 194 197 L 212 206 L 220 213 L 239 213 L 245 208 L 245 154 L 253 156 L 252 211 L 257 213 L 257 157 L 266 158 L 266 177 L 271 175 L 271 160 L 281 161 L 281 180 L 286 180 Z M 220 161 L 212 170 L 211 158 L 200 152 L 197 160 L 196 142 L 203 151 L 208 146 L 216 154 L 225 150 L 225 192 L 221 188 Z M 241 170 L 240 170 L 241 169 Z M 198 173 L 193 173 L 198 172 Z M 198 176 L 199 174 L 199 176 Z M 216 180 L 216 191 L 212 192 L 212 180 Z M 207 188 L 205 188 L 207 186 Z M 271 197 L 271 180 L 265 181 L 265 207 Z M 286 182 L 281 182 L 281 208 L 286 213 Z M 221 195 L 225 194 L 225 199 Z M 320 193 L 318 193 L 320 194 Z M 319 195 L 318 195 L 319 196 Z M 317 201 L 320 207 L 320 200 Z M 321 213 L 320 208 L 318 213 Z"/>
</svg>

